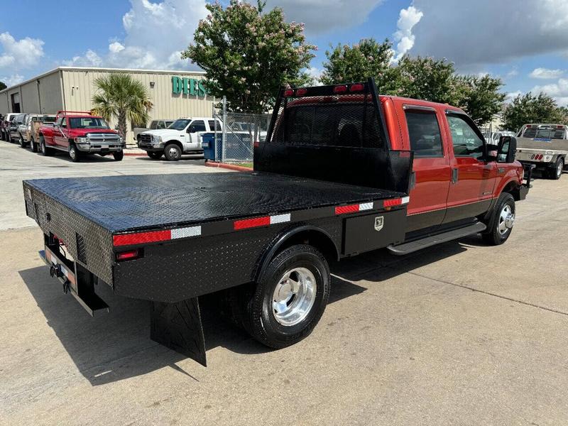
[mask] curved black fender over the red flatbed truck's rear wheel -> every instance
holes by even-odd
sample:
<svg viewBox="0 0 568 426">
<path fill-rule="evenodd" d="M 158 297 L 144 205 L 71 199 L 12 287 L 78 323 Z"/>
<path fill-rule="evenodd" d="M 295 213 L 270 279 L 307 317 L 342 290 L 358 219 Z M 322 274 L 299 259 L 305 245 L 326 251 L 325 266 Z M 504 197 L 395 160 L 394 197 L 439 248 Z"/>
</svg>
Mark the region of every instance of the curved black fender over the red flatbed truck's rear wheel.
<svg viewBox="0 0 568 426">
<path fill-rule="evenodd" d="M 263 251 L 258 266 L 253 276 L 253 280 L 260 280 L 272 259 L 288 247 L 296 244 L 309 244 L 319 250 L 327 261 L 339 260 L 339 250 L 334 243 L 332 236 L 327 231 L 314 225 L 300 225 L 283 230 L 272 243 Z"/>
</svg>

